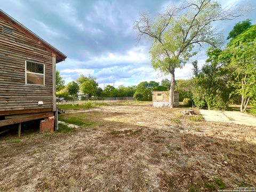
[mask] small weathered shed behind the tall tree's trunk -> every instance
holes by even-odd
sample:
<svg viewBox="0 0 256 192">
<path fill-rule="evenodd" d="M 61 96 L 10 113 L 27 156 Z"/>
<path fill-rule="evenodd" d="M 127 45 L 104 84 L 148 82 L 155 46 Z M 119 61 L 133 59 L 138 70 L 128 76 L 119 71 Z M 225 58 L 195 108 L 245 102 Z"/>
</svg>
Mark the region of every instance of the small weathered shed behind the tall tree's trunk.
<svg viewBox="0 0 256 192">
<path fill-rule="evenodd" d="M 174 91 L 174 107 L 179 106 L 179 92 Z M 153 91 L 152 100 L 154 107 L 169 106 L 169 91 Z"/>
</svg>

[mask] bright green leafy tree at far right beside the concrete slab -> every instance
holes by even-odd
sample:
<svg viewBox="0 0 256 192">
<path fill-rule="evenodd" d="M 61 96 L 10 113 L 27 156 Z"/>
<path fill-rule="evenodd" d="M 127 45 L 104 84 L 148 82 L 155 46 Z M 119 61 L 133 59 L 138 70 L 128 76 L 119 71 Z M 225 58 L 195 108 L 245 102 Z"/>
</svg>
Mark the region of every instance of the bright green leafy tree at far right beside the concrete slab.
<svg viewBox="0 0 256 192">
<path fill-rule="evenodd" d="M 256 100 L 256 25 L 233 38 L 223 55 L 229 55 L 227 68 L 232 71 L 233 93 L 241 95 L 241 111 L 250 100 Z M 253 103 L 253 102 L 252 102 Z"/>
</svg>

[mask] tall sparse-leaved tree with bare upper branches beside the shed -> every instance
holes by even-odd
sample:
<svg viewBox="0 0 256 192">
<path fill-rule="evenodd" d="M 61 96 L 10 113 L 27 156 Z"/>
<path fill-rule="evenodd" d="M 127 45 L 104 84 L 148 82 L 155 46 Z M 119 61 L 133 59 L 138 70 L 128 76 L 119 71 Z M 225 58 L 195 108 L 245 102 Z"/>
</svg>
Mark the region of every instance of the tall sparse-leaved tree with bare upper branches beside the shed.
<svg viewBox="0 0 256 192">
<path fill-rule="evenodd" d="M 174 71 L 182 68 L 196 52 L 195 45 L 216 46 L 220 36 L 212 27 L 212 22 L 233 19 L 235 13 L 223 10 L 221 5 L 211 0 L 185 2 L 186 6 L 167 7 L 166 12 L 158 14 L 155 20 L 142 13 L 134 28 L 139 39 L 146 35 L 152 40 L 151 64 L 163 74 L 170 74 L 170 107 L 174 107 Z"/>
</svg>

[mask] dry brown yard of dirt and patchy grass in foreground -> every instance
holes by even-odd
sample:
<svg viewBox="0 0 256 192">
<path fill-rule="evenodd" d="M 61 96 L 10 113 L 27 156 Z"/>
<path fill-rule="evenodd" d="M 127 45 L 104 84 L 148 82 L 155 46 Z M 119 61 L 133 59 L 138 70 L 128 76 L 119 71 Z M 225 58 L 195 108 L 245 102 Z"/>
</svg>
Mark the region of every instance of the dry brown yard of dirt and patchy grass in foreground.
<svg viewBox="0 0 256 192">
<path fill-rule="evenodd" d="M 0 191 L 217 191 L 256 186 L 256 127 L 149 103 L 76 108 L 66 133 L 0 138 Z M 199 111 L 197 111 L 199 113 Z"/>
</svg>

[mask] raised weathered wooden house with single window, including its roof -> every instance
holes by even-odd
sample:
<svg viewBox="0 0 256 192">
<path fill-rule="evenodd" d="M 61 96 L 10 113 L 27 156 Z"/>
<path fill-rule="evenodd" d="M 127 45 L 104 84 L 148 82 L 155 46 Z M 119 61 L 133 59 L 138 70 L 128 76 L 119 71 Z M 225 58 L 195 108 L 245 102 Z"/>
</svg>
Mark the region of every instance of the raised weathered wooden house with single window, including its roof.
<svg viewBox="0 0 256 192">
<path fill-rule="evenodd" d="M 66 58 L 0 9 L 0 128 L 44 119 L 40 131 L 53 130 L 55 64 Z"/>
</svg>

